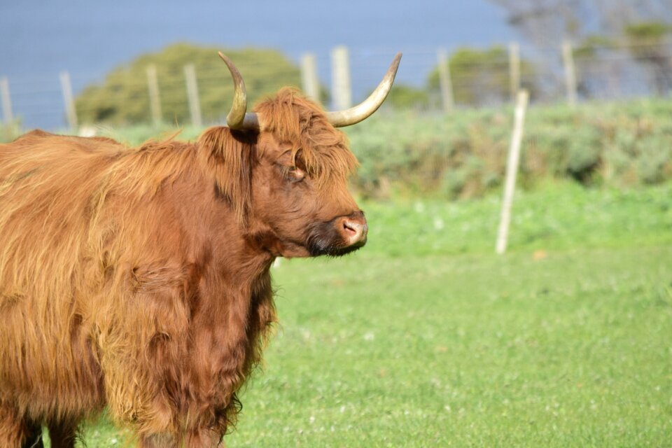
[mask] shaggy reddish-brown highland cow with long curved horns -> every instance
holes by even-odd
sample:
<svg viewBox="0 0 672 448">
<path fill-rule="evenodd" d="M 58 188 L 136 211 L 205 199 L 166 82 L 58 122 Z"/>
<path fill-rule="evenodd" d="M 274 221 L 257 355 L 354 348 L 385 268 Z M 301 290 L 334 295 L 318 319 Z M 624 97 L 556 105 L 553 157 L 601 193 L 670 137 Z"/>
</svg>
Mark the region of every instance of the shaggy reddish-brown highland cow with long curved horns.
<svg viewBox="0 0 672 448">
<path fill-rule="evenodd" d="M 384 100 L 325 113 L 294 90 L 196 143 L 128 148 L 34 131 L 0 145 L 0 447 L 72 447 L 107 407 L 141 447 L 214 447 L 274 322 L 278 256 L 363 246 L 335 126 Z"/>
</svg>

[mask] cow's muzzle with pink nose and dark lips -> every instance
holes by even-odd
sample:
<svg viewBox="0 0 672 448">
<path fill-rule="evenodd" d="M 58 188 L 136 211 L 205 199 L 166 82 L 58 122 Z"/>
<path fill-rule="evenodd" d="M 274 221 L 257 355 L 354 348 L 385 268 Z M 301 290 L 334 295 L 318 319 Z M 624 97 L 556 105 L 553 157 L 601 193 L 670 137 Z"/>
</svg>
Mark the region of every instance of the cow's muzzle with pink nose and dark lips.
<svg viewBox="0 0 672 448">
<path fill-rule="evenodd" d="M 363 211 L 316 225 L 308 237 L 310 255 L 345 255 L 366 244 L 369 226 Z"/>
</svg>

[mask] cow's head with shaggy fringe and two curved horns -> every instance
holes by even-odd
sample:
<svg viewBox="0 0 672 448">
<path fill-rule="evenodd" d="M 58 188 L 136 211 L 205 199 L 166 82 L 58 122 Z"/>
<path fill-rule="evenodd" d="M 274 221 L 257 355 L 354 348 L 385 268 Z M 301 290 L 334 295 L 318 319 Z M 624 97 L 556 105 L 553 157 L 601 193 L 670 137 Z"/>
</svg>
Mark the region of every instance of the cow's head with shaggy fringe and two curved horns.
<svg viewBox="0 0 672 448">
<path fill-rule="evenodd" d="M 211 162 L 223 173 L 218 188 L 234 205 L 247 234 L 273 255 L 344 255 L 366 243 L 363 211 L 347 189 L 357 160 L 336 127 L 370 116 L 382 104 L 398 68 L 395 57 L 386 76 L 363 103 L 346 111 L 324 112 L 297 91 L 276 97 L 246 113 L 239 71 L 220 53 L 235 82 L 228 127 L 202 135 Z"/>
</svg>

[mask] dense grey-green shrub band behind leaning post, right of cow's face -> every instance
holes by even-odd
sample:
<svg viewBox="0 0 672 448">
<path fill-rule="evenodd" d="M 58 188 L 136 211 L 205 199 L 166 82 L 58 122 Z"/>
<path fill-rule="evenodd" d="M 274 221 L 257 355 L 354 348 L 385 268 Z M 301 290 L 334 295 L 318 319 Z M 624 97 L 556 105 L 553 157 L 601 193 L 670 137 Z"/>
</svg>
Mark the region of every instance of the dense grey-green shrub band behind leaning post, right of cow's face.
<svg viewBox="0 0 672 448">
<path fill-rule="evenodd" d="M 438 193 L 472 197 L 503 181 L 510 109 L 429 116 L 379 113 L 346 128 L 365 195 Z M 570 178 L 584 185 L 631 186 L 672 179 L 672 102 L 533 106 L 528 110 L 519 180 Z"/>
</svg>

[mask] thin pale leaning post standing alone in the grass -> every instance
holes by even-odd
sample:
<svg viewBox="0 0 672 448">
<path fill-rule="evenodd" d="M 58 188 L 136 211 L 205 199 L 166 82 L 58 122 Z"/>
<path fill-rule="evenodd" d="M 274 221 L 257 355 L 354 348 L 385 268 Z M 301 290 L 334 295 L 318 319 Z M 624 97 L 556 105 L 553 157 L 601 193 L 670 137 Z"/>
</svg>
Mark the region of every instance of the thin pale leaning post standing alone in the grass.
<svg viewBox="0 0 672 448">
<path fill-rule="evenodd" d="M 504 183 L 504 198 L 502 201 L 502 214 L 499 220 L 499 230 L 497 232 L 497 244 L 495 250 L 498 254 L 506 251 L 507 239 L 509 237 L 509 225 L 511 223 L 511 206 L 513 204 L 513 192 L 516 188 L 516 174 L 520 161 L 520 146 L 523 139 L 523 127 L 525 124 L 525 111 L 529 102 L 527 90 L 520 90 L 516 98 L 516 110 L 514 118 L 513 134 L 511 136 L 511 146 L 506 162 L 506 179 Z"/>
</svg>

